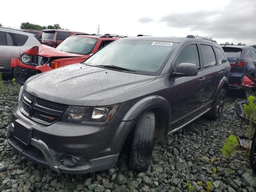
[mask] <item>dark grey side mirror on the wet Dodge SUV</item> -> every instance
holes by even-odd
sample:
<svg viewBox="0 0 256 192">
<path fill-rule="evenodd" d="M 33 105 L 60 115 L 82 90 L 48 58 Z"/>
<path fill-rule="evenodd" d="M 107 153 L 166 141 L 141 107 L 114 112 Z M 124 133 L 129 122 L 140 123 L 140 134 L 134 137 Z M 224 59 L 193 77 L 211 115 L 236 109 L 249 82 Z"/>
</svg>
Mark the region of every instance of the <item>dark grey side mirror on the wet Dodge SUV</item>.
<svg viewBox="0 0 256 192">
<path fill-rule="evenodd" d="M 192 63 L 181 63 L 178 65 L 177 72 L 169 74 L 169 80 L 174 77 L 188 77 L 197 75 L 197 66 Z"/>
</svg>

